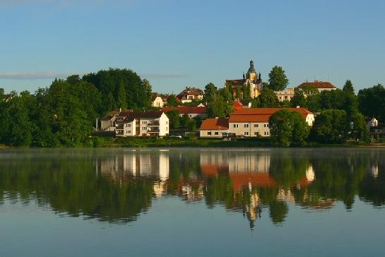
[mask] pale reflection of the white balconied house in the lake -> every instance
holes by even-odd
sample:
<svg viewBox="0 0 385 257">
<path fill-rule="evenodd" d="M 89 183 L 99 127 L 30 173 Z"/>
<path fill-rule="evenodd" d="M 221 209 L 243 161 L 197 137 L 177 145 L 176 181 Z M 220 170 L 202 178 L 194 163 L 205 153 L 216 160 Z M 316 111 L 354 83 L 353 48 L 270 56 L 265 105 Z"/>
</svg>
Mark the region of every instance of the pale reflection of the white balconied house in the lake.
<svg viewBox="0 0 385 257">
<path fill-rule="evenodd" d="M 97 174 L 110 177 L 119 184 L 134 177 L 152 177 L 155 196 L 160 197 L 165 191 L 170 173 L 168 153 L 124 150 L 115 156 L 100 157 L 96 162 Z"/>
</svg>

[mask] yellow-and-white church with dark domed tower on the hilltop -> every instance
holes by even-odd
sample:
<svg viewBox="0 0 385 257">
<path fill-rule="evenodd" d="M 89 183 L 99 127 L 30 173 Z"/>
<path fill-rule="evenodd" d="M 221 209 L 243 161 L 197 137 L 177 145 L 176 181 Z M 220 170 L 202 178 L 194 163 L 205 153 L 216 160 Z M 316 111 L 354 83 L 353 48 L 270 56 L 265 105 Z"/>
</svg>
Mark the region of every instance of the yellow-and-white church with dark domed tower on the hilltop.
<svg viewBox="0 0 385 257">
<path fill-rule="evenodd" d="M 249 90 L 251 98 L 258 97 L 263 86 L 261 73 L 256 73 L 254 61 L 250 61 L 249 71 L 247 71 L 246 75 L 243 74 L 243 79 L 226 80 L 225 86 L 231 87 L 234 99 L 238 98 L 237 92 L 240 92 L 243 98 L 243 96 L 247 93 L 246 90 Z"/>
</svg>

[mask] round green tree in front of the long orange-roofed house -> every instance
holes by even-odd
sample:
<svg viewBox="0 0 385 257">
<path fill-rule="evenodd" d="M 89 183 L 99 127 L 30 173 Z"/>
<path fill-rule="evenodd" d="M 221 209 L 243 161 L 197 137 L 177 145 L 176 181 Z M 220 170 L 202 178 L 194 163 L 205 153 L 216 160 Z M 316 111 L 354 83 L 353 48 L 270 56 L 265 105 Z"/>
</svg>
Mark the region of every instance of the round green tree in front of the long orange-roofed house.
<svg viewBox="0 0 385 257">
<path fill-rule="evenodd" d="M 268 124 L 271 140 L 275 145 L 302 145 L 309 136 L 309 126 L 301 114 L 295 111 L 281 109 L 271 115 Z"/>
</svg>

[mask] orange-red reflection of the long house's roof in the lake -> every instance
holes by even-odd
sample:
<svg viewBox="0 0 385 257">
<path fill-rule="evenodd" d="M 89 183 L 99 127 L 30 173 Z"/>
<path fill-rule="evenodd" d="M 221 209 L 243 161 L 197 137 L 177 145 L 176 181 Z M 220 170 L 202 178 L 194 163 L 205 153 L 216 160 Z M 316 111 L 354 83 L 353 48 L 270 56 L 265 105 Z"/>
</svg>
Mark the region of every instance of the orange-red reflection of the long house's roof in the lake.
<svg viewBox="0 0 385 257">
<path fill-rule="evenodd" d="M 249 186 L 249 183 L 251 183 L 252 186 L 276 186 L 276 181 L 274 181 L 268 173 L 262 172 L 230 172 L 230 179 L 232 180 L 232 186 L 235 191 L 239 191 L 239 189 L 242 189 L 244 186 Z"/>
</svg>

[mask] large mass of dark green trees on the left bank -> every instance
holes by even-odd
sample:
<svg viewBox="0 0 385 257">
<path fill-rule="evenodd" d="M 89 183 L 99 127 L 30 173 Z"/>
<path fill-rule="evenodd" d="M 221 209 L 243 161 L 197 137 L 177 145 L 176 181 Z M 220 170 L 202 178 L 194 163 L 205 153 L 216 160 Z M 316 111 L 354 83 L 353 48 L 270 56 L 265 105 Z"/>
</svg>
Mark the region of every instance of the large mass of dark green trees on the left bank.
<svg viewBox="0 0 385 257">
<path fill-rule="evenodd" d="M 150 105 L 148 80 L 133 71 L 112 69 L 83 78 L 55 79 L 35 93 L 0 90 L 0 144 L 78 146 L 93 131 L 95 119 L 116 108 Z"/>
</svg>

